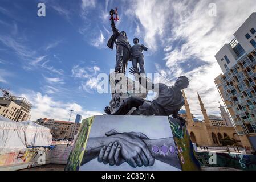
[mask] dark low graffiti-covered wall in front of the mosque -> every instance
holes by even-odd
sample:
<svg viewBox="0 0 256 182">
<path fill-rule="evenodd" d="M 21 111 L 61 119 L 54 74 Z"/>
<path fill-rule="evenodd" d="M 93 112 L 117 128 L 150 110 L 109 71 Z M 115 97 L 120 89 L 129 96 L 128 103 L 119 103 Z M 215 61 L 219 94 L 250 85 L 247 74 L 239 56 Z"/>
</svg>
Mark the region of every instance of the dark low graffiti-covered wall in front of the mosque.
<svg viewBox="0 0 256 182">
<path fill-rule="evenodd" d="M 233 153 L 197 152 L 201 166 L 229 167 L 239 170 L 256 170 L 256 156 Z"/>
</svg>

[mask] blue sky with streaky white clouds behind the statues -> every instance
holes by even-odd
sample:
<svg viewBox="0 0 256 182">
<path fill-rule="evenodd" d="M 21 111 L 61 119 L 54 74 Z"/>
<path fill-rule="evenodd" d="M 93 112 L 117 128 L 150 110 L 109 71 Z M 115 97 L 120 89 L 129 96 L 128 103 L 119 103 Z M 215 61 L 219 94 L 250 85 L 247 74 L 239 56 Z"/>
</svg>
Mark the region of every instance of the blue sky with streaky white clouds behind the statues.
<svg viewBox="0 0 256 182">
<path fill-rule="evenodd" d="M 40 2 L 45 17 L 37 15 Z M 149 48 L 145 70 L 160 74 L 154 81 L 170 86 L 187 76 L 192 113 L 202 119 L 198 92 L 208 114 L 218 115 L 214 55 L 256 10 L 254 0 L 0 0 L 0 88 L 32 103 L 32 121 L 67 121 L 71 109 L 71 121 L 103 114 L 111 94 L 97 92 L 97 75 L 115 67 L 116 51 L 106 46 L 115 7 L 117 28 Z"/>
</svg>

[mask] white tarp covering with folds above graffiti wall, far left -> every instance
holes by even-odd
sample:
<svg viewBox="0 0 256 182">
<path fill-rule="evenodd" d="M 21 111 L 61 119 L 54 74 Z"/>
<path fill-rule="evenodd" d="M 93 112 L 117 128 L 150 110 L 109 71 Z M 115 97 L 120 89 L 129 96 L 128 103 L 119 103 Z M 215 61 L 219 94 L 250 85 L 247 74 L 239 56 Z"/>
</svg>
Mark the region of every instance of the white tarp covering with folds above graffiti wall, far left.
<svg viewBox="0 0 256 182">
<path fill-rule="evenodd" d="M 33 123 L 0 118 L 0 154 L 15 152 L 27 146 L 50 146 L 50 129 Z"/>
</svg>

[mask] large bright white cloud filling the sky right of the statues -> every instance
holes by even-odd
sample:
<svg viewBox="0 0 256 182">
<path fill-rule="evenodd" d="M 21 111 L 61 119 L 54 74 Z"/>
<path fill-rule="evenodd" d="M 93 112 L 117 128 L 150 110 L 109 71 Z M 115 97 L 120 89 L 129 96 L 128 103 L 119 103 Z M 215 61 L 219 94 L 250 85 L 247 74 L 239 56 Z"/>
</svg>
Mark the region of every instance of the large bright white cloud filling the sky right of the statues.
<svg viewBox="0 0 256 182">
<path fill-rule="evenodd" d="M 216 3 L 217 17 L 209 16 L 209 3 Z M 135 1 L 134 7 L 143 27 L 139 30 L 142 30 L 145 44 L 155 50 L 159 41 L 165 47 L 166 67 L 158 69 L 161 76 L 156 81 L 170 85 L 178 76 L 188 76 L 190 85 L 186 95 L 192 113 L 202 118 L 198 91 L 208 114 L 218 114 L 221 98 L 214 78 L 220 75 L 221 69 L 214 55 L 230 42 L 235 30 L 255 11 L 255 1 L 152 0 Z M 195 59 L 202 62 L 198 68 L 193 63 Z M 191 71 L 184 65 L 194 68 Z"/>
</svg>

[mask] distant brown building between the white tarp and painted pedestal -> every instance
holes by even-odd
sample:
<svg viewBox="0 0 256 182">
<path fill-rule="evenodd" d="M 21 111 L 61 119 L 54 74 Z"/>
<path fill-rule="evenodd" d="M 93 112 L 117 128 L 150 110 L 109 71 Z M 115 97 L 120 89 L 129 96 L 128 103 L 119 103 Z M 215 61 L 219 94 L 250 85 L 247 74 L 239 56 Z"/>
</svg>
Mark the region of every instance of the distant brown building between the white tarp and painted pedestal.
<svg viewBox="0 0 256 182">
<path fill-rule="evenodd" d="M 52 138 L 54 139 L 74 139 L 80 128 L 80 123 L 56 121 L 47 118 L 38 119 L 36 122 L 51 129 Z"/>
</svg>

